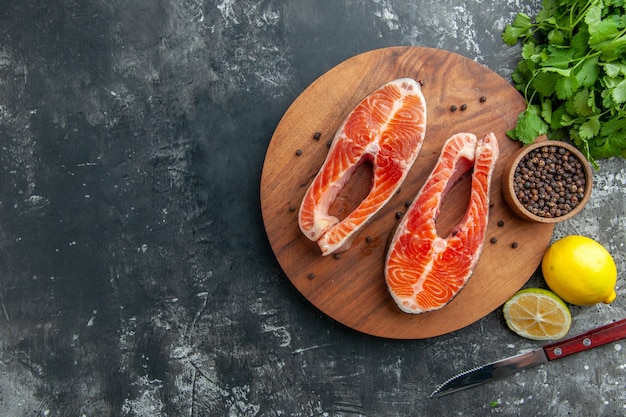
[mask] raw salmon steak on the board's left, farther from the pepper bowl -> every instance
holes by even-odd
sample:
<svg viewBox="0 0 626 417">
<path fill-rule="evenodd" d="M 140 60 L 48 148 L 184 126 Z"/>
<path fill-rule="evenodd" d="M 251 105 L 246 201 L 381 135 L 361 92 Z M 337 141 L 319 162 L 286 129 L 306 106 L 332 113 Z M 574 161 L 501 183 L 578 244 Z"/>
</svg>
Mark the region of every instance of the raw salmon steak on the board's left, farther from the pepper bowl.
<svg viewBox="0 0 626 417">
<path fill-rule="evenodd" d="M 298 214 L 304 235 L 323 255 L 347 250 L 352 240 L 387 203 L 422 147 L 426 101 L 410 78 L 391 81 L 363 99 L 338 129 L 324 164 L 309 186 Z M 368 195 L 343 220 L 328 213 L 357 167 L 372 163 Z"/>
</svg>

